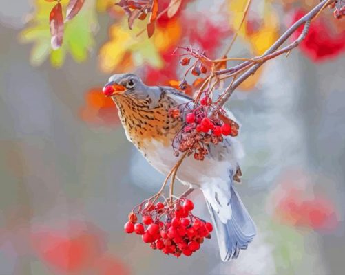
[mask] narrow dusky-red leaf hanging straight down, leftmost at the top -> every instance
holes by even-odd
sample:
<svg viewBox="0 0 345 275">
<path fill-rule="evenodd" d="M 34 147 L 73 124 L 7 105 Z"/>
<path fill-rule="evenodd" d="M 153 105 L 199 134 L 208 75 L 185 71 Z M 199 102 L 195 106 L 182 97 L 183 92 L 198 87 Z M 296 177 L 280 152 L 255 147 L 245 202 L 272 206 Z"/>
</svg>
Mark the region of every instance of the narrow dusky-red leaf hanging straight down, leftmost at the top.
<svg viewBox="0 0 345 275">
<path fill-rule="evenodd" d="M 59 49 L 63 41 L 63 16 L 61 3 L 57 3 L 49 16 L 50 23 L 50 35 L 52 39 L 50 43 L 52 44 L 53 50 Z"/>
</svg>

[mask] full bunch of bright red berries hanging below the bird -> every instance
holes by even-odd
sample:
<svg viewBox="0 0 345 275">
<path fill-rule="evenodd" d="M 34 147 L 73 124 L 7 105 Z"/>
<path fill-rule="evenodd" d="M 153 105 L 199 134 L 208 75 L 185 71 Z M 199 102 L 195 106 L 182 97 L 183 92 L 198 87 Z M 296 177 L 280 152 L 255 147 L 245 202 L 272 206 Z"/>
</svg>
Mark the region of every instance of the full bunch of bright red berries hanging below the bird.
<svg viewBox="0 0 345 275">
<path fill-rule="evenodd" d="M 137 214 L 129 214 L 125 223 L 125 232 L 141 235 L 144 243 L 149 243 L 154 250 L 176 257 L 191 256 L 200 249 L 204 238 L 210 239 L 212 224 L 202 221 L 191 214 L 194 203 L 180 198 L 172 206 L 168 203 L 151 203 L 137 214 L 142 216 L 138 222 Z"/>
</svg>

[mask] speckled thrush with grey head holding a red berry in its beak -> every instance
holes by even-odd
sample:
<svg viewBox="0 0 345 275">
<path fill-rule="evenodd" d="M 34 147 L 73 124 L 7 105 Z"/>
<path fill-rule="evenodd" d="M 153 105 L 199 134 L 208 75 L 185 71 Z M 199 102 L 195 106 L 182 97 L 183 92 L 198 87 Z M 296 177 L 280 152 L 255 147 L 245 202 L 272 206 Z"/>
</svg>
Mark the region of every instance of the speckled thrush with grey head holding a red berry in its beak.
<svg viewBox="0 0 345 275">
<path fill-rule="evenodd" d="M 160 173 L 167 175 L 177 162 L 171 144 L 185 118 L 169 115 L 171 109 L 190 104 L 192 98 L 172 87 L 147 86 L 136 74 L 114 74 L 103 87 L 114 100 L 127 139 Z M 227 116 L 236 121 L 233 114 Z M 220 258 L 230 261 L 246 250 L 256 234 L 256 226 L 244 207 L 234 181 L 240 175 L 242 146 L 235 137 L 225 136 L 219 144 L 209 144 L 203 161 L 186 157 L 176 178 L 189 188 L 200 188 L 218 239 Z"/>
</svg>

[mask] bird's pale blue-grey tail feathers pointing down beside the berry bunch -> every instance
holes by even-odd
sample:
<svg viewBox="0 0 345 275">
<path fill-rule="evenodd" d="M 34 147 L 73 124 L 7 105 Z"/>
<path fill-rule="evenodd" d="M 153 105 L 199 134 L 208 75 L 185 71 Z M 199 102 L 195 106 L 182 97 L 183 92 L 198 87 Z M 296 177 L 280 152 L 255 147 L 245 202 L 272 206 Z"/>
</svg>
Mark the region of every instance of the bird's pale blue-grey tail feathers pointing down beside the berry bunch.
<svg viewBox="0 0 345 275">
<path fill-rule="evenodd" d="M 211 192 L 209 190 L 203 190 L 215 227 L 222 261 L 236 259 L 240 253 L 240 249 L 247 249 L 248 244 L 256 234 L 255 223 L 249 216 L 247 209 L 244 208 L 232 184 L 230 189 L 230 203 L 227 203 L 225 206 L 221 206 L 219 203 L 214 206 L 215 199 L 210 197 L 212 195 Z M 224 221 L 224 211 L 231 215 L 231 218 L 227 221 Z"/>
</svg>

